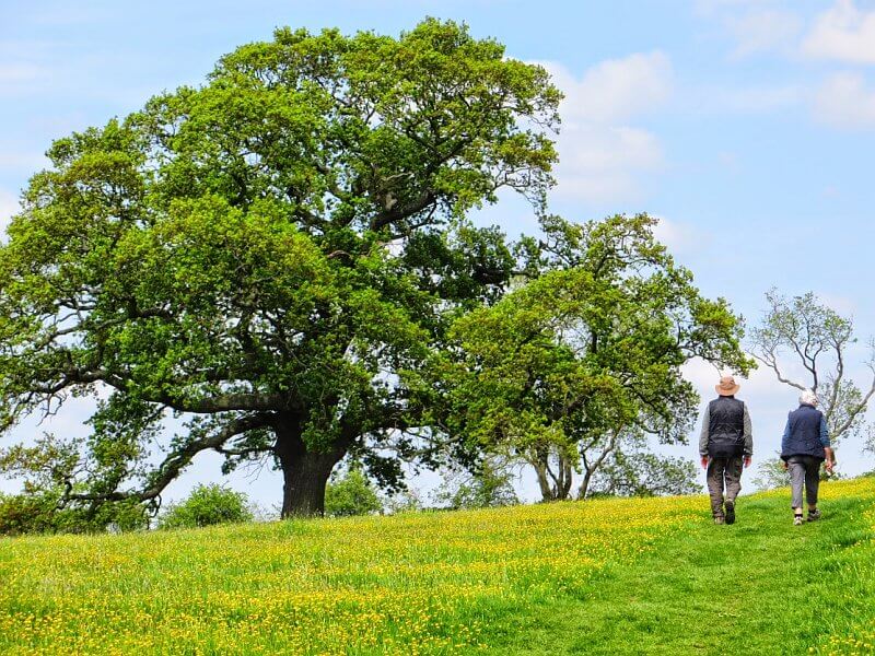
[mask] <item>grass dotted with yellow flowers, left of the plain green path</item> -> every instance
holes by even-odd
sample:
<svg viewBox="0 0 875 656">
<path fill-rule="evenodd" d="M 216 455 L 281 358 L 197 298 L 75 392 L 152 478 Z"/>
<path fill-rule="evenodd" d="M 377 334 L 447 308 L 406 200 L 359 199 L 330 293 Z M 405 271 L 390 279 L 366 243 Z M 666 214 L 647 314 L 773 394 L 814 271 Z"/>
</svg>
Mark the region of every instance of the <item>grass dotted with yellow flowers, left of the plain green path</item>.
<svg viewBox="0 0 875 656">
<path fill-rule="evenodd" d="M 630 562 L 700 499 L 0 540 L 11 654 L 442 654 Z"/>
</svg>

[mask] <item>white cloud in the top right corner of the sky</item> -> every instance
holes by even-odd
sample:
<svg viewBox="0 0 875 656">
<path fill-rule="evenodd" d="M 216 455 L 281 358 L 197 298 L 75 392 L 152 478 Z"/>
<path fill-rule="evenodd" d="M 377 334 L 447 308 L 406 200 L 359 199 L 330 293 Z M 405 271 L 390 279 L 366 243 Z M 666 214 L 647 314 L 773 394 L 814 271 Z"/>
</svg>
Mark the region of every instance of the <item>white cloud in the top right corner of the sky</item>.
<svg viewBox="0 0 875 656">
<path fill-rule="evenodd" d="M 802 49 L 817 59 L 875 63 L 875 10 L 861 11 L 853 0 L 837 0 L 817 16 Z"/>
</svg>

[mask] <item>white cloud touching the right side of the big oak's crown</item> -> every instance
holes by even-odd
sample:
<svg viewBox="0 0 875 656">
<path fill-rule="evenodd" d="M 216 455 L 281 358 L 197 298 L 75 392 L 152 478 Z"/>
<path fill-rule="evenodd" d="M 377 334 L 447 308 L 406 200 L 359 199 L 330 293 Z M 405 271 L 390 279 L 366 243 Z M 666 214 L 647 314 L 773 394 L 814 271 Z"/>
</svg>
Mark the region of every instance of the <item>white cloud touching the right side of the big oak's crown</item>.
<svg viewBox="0 0 875 656">
<path fill-rule="evenodd" d="M 650 131 L 627 125 L 663 106 L 672 93 L 672 66 L 662 52 L 634 54 L 599 62 L 575 78 L 542 62 L 565 94 L 557 140 L 559 196 L 592 202 L 641 195 L 642 173 L 664 166 L 663 148 Z"/>
</svg>

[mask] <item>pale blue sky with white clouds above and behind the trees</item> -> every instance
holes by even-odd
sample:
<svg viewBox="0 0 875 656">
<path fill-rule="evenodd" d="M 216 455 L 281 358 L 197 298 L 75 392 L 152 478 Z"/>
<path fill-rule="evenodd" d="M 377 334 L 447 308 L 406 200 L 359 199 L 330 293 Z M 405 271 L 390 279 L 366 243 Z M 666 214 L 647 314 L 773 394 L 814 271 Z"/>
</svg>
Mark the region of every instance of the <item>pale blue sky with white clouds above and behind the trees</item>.
<svg viewBox="0 0 875 656">
<path fill-rule="evenodd" d="M 51 139 L 198 83 L 275 26 L 397 34 L 425 15 L 465 21 L 553 72 L 567 93 L 553 211 L 660 216 L 660 236 L 702 291 L 749 323 L 777 286 L 813 290 L 852 315 L 861 342 L 875 332 L 872 0 L 0 0 L 0 227 Z M 514 198 L 478 221 L 510 234 L 534 225 Z M 854 356 L 865 360 L 862 344 Z M 710 398 L 715 372 L 688 373 Z M 867 387 L 870 372 L 854 373 Z M 795 394 L 758 372 L 739 396 L 765 456 Z M 80 432 L 83 412 L 71 408 L 54 430 Z M 848 472 L 875 466 L 859 442 L 840 456 Z M 172 496 L 211 475 L 203 460 Z M 269 475 L 234 484 L 267 505 L 278 496 Z"/>
</svg>

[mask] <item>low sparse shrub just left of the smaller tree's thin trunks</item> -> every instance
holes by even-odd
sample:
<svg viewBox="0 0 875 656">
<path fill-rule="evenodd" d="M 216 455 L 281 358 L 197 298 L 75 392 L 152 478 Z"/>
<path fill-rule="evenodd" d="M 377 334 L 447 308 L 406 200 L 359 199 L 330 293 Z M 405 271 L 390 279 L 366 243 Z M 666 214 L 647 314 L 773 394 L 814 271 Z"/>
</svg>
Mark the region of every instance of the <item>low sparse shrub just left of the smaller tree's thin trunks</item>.
<svg viewBox="0 0 875 656">
<path fill-rule="evenodd" d="M 486 459 L 474 472 L 459 471 L 445 476 L 434 500 L 453 511 L 463 508 L 494 508 L 520 503 L 513 487 L 510 467 Z"/>
</svg>

